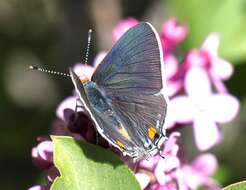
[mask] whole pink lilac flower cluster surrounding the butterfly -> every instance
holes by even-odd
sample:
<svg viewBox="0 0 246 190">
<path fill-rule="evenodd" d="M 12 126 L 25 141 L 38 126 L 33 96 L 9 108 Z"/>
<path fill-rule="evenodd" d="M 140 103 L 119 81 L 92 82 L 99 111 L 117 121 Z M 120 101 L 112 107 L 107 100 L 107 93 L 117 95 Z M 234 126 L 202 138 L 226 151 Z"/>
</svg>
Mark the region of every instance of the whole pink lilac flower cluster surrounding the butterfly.
<svg viewBox="0 0 246 190">
<path fill-rule="evenodd" d="M 134 18 L 122 20 L 113 30 L 113 41 L 138 21 Z M 134 172 L 142 189 L 145 190 L 189 190 L 204 187 L 219 189 L 211 176 L 218 166 L 217 159 L 207 151 L 222 140 L 221 124 L 232 121 L 239 110 L 239 101 L 229 94 L 224 81 L 233 73 L 232 64 L 218 56 L 219 36 L 211 33 L 199 49 L 188 51 L 182 62 L 176 58 L 176 47 L 188 34 L 188 28 L 180 25 L 175 18 L 166 21 L 161 28 L 161 42 L 164 52 L 167 93 L 170 98 L 165 127 L 168 140 L 163 145 L 165 159 L 156 155 L 148 160 L 135 163 Z M 76 64 L 74 71 L 78 76 L 91 78 L 93 71 L 106 55 L 101 52 L 94 65 Z M 92 143 L 95 131 L 83 109 L 77 120 L 74 119 L 76 96 L 66 98 L 57 108 L 59 118 L 54 125 L 63 126 L 59 134 L 71 135 Z M 58 124 L 57 124 L 58 123 Z M 192 125 L 198 155 L 192 160 L 184 158 L 180 143 L 179 126 Z M 58 127 L 57 127 L 58 128 Z M 56 129 L 55 129 L 56 130 Z M 99 143 L 109 147 L 103 139 Z M 52 142 L 45 140 L 32 151 L 34 163 L 48 169 L 48 184 L 58 172 L 52 160 Z M 55 171 L 55 172 L 54 172 Z M 55 174 L 55 175 L 50 175 Z M 31 190 L 48 188 L 35 186 Z"/>
</svg>

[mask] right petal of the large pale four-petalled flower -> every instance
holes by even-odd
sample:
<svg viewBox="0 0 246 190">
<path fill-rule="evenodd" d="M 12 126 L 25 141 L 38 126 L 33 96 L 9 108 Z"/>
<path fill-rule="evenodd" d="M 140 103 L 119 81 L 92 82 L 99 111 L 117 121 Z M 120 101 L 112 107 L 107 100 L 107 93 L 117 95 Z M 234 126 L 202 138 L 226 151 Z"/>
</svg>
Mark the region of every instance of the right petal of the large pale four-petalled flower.
<svg viewBox="0 0 246 190">
<path fill-rule="evenodd" d="M 217 94 L 210 97 L 209 115 L 216 122 L 232 121 L 239 111 L 239 101 L 230 94 Z"/>
</svg>

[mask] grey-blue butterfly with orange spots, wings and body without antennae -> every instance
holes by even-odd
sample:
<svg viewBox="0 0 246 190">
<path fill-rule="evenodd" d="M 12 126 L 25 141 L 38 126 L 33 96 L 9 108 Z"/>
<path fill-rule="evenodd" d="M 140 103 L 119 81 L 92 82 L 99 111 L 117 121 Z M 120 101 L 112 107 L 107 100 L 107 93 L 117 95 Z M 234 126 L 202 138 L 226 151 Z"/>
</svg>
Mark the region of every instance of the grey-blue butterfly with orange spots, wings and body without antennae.
<svg viewBox="0 0 246 190">
<path fill-rule="evenodd" d="M 159 36 L 142 22 L 116 42 L 91 80 L 69 70 L 96 130 L 124 156 L 139 160 L 160 152 L 168 103 L 163 66 Z"/>
</svg>

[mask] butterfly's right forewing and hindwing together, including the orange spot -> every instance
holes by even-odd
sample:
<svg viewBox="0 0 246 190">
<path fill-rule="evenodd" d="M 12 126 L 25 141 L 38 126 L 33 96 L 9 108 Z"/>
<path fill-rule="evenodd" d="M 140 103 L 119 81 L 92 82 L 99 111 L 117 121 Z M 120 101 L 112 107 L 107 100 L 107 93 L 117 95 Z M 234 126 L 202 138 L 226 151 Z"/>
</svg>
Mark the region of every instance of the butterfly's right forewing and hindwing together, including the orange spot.
<svg viewBox="0 0 246 190">
<path fill-rule="evenodd" d="M 164 94 L 160 39 L 149 23 L 129 29 L 92 76 L 127 131 L 156 144 L 164 136 L 167 96 Z"/>
</svg>

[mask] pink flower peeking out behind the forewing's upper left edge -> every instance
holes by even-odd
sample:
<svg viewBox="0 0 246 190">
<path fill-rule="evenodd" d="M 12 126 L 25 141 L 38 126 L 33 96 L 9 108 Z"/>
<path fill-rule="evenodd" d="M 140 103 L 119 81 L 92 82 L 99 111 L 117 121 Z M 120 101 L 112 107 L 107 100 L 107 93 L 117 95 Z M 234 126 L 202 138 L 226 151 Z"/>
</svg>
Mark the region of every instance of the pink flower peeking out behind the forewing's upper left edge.
<svg viewBox="0 0 246 190">
<path fill-rule="evenodd" d="M 131 27 L 137 25 L 139 22 L 135 18 L 129 17 L 127 19 L 124 19 L 120 21 L 116 27 L 113 29 L 113 41 L 116 42 L 120 37 Z"/>
</svg>

